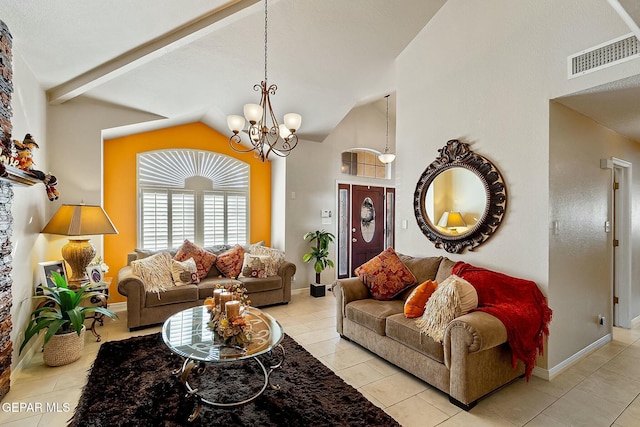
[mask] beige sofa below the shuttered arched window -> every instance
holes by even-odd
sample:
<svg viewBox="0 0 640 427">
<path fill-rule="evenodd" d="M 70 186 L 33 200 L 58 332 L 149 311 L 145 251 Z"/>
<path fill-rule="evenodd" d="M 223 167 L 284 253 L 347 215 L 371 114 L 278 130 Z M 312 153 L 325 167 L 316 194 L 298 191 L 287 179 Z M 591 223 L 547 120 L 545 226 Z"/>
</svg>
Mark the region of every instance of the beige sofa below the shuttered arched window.
<svg viewBox="0 0 640 427">
<path fill-rule="evenodd" d="M 213 296 L 214 285 L 231 283 L 231 279 L 221 276 L 218 269 L 211 267 L 207 277 L 197 285 L 170 287 L 164 292 L 146 292 L 140 277 L 133 274 L 131 261 L 139 259 L 138 253 L 127 256 L 127 265 L 118 272 L 118 292 L 127 297 L 127 327 L 129 330 L 164 322 L 179 311 L 202 305 L 207 297 Z M 295 264 L 285 261 L 277 276 L 264 279 L 239 277 L 254 307 L 286 304 L 291 301 L 291 280 L 296 272 Z"/>
</svg>

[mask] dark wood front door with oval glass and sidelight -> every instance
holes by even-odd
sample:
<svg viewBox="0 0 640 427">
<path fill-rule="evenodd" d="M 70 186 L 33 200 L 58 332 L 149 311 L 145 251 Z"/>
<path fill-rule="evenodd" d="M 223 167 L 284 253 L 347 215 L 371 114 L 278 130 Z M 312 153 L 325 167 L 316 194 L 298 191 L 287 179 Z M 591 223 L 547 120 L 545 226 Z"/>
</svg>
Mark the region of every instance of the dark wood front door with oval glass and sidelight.
<svg viewBox="0 0 640 427">
<path fill-rule="evenodd" d="M 393 246 L 394 222 L 394 188 L 338 184 L 339 279 Z"/>
</svg>

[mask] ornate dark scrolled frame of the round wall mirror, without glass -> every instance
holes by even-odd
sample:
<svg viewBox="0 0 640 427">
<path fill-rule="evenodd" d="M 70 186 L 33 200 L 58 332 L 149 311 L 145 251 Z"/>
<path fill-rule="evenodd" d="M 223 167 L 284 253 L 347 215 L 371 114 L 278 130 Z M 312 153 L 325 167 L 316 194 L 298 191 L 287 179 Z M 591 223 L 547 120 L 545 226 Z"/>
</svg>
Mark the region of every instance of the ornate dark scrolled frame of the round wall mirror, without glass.
<svg viewBox="0 0 640 427">
<path fill-rule="evenodd" d="M 507 208 L 507 190 L 500 171 L 487 158 L 474 153 L 469 144 L 457 139 L 447 141 L 438 150 L 440 156 L 420 175 L 413 197 L 413 208 L 422 233 L 436 248 L 449 253 L 460 253 L 466 247 L 473 251 L 496 231 Z M 475 173 L 486 192 L 486 204 L 482 218 L 467 232 L 459 235 L 444 234 L 429 219 L 425 198 L 434 179 L 445 170 L 462 167 Z"/>
</svg>

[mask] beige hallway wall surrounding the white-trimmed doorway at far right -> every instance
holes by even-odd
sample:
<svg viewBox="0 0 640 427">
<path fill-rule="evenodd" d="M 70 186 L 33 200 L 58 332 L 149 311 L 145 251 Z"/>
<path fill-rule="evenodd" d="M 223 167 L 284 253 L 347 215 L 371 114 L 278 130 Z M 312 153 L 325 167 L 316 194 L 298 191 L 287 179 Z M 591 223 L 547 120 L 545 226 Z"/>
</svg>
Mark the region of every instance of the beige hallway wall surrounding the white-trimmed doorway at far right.
<svg viewBox="0 0 640 427">
<path fill-rule="evenodd" d="M 593 342 L 611 333 L 612 233 L 604 223 L 611 218 L 611 170 L 600 168 L 600 159 L 617 157 L 640 165 L 640 145 L 557 102 L 550 104 L 549 288 L 554 322 L 572 325 L 558 328 L 549 337 L 557 349 L 550 366 L 560 364 Z M 640 175 L 632 174 L 633 186 Z M 635 192 L 637 194 L 637 191 Z M 632 199 L 632 253 L 640 251 L 640 200 Z M 632 271 L 632 317 L 640 310 L 640 263 Z M 597 323 L 597 315 L 607 325 Z M 579 331 L 579 332 L 578 332 Z"/>
</svg>

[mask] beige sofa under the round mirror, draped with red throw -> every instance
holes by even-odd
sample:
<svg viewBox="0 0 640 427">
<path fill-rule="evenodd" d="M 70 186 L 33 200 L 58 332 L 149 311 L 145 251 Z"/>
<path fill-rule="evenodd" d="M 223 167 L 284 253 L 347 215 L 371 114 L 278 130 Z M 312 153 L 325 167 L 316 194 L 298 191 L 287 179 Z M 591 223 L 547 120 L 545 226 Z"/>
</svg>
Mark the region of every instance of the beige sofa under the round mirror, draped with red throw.
<svg viewBox="0 0 640 427">
<path fill-rule="evenodd" d="M 444 257 L 400 259 L 418 279 L 442 283 L 455 264 Z M 339 280 L 333 287 L 337 300 L 338 333 L 449 395 L 469 410 L 482 396 L 524 375 L 522 362 L 511 365 L 507 330 L 496 317 L 472 311 L 447 326 L 443 343 L 421 334 L 416 319 L 404 316 L 404 300 L 377 301 L 358 278 Z"/>
</svg>

